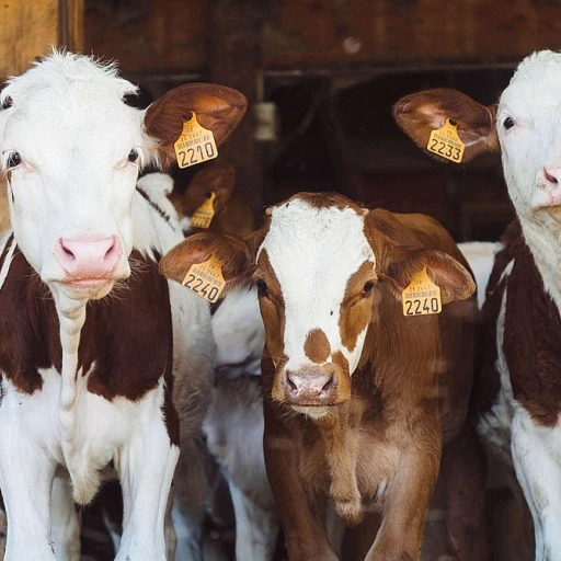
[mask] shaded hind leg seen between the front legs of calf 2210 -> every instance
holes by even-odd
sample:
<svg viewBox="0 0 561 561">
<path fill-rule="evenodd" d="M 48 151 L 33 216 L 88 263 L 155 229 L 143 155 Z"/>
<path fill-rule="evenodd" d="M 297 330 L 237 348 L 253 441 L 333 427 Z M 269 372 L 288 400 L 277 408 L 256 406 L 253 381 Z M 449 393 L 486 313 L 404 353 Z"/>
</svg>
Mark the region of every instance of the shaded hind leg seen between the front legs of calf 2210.
<svg viewBox="0 0 561 561">
<path fill-rule="evenodd" d="M 50 492 L 51 537 L 58 561 L 80 561 L 80 520 L 70 480 L 55 477 Z"/>
</svg>

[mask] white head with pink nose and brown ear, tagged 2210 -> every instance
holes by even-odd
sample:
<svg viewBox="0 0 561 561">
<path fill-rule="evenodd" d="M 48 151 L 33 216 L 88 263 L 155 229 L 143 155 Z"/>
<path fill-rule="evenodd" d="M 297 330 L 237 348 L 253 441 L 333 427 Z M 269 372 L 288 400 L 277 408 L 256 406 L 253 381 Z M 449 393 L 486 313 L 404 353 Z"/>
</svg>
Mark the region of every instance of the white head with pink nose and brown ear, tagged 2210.
<svg viewBox="0 0 561 561">
<path fill-rule="evenodd" d="M 10 217 L 27 261 L 53 289 L 101 298 L 129 273 L 131 203 L 139 169 L 173 161 L 195 112 L 217 144 L 245 108 L 239 92 L 188 84 L 146 111 L 113 65 L 55 51 L 1 92 L 0 150 Z"/>
</svg>

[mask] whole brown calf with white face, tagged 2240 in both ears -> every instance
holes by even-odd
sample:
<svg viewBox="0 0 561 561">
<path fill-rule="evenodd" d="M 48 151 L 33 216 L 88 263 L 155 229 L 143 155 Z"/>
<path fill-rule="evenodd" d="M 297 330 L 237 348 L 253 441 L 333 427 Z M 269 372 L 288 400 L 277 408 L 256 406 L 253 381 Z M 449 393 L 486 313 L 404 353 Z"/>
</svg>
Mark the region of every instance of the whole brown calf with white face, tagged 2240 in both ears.
<svg viewBox="0 0 561 561">
<path fill-rule="evenodd" d="M 298 194 L 250 238 L 192 236 L 160 270 L 180 280 L 211 254 L 227 289 L 257 287 L 265 461 L 289 558 L 336 559 L 332 501 L 348 524 L 364 506 L 381 513 L 367 559 L 419 559 L 444 443 L 454 554 L 482 559 L 484 470 L 466 425 L 474 284 L 446 231 L 426 216 Z M 401 293 L 423 267 L 446 306 L 404 317 Z"/>
</svg>

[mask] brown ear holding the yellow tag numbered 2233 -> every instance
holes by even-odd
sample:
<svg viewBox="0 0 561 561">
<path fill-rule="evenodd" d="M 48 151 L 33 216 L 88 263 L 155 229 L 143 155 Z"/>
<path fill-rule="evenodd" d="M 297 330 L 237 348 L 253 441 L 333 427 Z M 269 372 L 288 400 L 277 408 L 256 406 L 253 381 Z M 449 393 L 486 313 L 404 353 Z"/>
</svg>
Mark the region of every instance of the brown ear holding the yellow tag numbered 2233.
<svg viewBox="0 0 561 561">
<path fill-rule="evenodd" d="M 393 118 L 422 150 L 437 159 L 440 158 L 428 152 L 426 146 L 431 133 L 442 128 L 447 118 L 456 122 L 458 136 L 466 145 L 463 161 L 500 150 L 496 105 L 481 105 L 456 90 L 440 88 L 405 95 L 393 105 Z"/>
</svg>

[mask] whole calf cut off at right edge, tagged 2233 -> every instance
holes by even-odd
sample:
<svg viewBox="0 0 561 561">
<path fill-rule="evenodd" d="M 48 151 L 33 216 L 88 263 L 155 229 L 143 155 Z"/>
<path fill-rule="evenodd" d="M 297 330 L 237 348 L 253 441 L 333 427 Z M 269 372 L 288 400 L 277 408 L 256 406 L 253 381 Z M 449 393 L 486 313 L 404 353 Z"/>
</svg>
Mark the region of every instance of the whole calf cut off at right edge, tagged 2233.
<svg viewBox="0 0 561 561">
<path fill-rule="evenodd" d="M 561 560 L 561 54 L 535 53 L 499 103 L 455 90 L 408 95 L 398 123 L 421 147 L 446 118 L 465 160 L 501 151 L 517 219 L 486 289 L 481 436 L 514 465 L 534 518 L 537 561 Z"/>
</svg>

